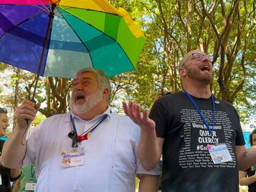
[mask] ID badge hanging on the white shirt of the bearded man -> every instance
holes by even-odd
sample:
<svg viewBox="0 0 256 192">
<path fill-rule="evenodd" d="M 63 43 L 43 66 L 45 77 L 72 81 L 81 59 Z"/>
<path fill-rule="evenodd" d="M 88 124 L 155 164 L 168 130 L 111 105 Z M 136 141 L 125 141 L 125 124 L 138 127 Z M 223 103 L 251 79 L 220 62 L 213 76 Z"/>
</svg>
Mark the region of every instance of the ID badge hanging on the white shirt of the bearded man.
<svg viewBox="0 0 256 192">
<path fill-rule="evenodd" d="M 84 152 L 69 152 L 62 156 L 62 168 L 69 168 L 71 166 L 84 165 L 85 153 Z"/>
</svg>

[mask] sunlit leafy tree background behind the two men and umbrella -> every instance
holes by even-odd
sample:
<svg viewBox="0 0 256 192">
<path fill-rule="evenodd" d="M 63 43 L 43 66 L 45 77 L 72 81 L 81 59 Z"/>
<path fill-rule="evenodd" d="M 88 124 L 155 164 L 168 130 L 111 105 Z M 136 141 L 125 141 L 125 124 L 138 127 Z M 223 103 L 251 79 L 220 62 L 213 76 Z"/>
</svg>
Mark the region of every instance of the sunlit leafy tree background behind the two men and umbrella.
<svg viewBox="0 0 256 192">
<path fill-rule="evenodd" d="M 233 104 L 244 134 L 256 128 L 255 116 L 255 0 L 111 0 L 123 7 L 140 26 L 146 43 L 137 70 L 111 77 L 111 107 L 123 113 L 121 101 L 133 100 L 148 109 L 158 92 L 177 92 L 177 72 L 186 52 L 201 49 L 214 57 L 216 98 Z M 24 98 L 30 98 L 35 74 L 0 63 L 0 107 L 9 111 L 11 126 Z M 72 80 L 41 77 L 35 99 L 41 102 L 33 122 L 69 112 Z M 247 141 L 247 139 L 246 139 Z"/>
</svg>

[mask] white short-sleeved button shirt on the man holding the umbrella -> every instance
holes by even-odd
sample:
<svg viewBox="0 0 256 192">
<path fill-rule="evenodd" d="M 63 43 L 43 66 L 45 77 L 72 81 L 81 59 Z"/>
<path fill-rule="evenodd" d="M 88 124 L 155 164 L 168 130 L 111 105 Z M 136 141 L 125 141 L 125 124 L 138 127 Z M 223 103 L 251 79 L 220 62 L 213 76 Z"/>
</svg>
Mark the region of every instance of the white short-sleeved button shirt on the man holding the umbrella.
<svg viewBox="0 0 256 192">
<path fill-rule="evenodd" d="M 110 107 L 90 121 L 74 116 L 80 135 L 104 114 L 107 118 L 82 141 L 84 165 L 61 168 L 62 152 L 71 152 L 70 113 L 46 119 L 30 133 L 24 166 L 35 165 L 39 192 L 133 192 L 136 174 L 160 175 L 160 169 L 145 171 L 137 156 L 140 127 L 130 118 L 110 112 Z"/>
</svg>

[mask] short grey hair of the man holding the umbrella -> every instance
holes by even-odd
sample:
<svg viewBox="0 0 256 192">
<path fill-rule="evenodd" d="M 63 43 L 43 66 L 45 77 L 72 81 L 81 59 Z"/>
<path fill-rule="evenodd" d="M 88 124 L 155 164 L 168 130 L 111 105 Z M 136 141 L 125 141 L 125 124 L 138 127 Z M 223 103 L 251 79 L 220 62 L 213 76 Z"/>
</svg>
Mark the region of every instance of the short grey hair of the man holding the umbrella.
<svg viewBox="0 0 256 192">
<path fill-rule="evenodd" d="M 111 99 L 111 85 L 110 85 L 110 80 L 108 79 L 107 75 L 101 69 L 94 69 L 94 68 L 80 69 L 79 71 L 77 71 L 76 75 L 80 75 L 80 74 L 86 73 L 86 72 L 96 74 L 96 76 L 98 77 L 99 88 L 101 90 L 104 90 L 104 88 L 108 88 L 109 92 L 108 92 L 108 96 L 107 96 L 107 102 L 109 104 L 110 99 Z"/>
</svg>

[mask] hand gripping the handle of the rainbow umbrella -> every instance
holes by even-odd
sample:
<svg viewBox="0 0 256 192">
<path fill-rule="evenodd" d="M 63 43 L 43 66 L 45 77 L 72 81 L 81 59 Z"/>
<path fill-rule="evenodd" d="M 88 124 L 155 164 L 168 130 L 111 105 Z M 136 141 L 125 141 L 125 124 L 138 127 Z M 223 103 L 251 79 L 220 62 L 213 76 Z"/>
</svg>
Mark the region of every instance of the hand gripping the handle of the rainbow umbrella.
<svg viewBox="0 0 256 192">
<path fill-rule="evenodd" d="M 25 99 L 16 112 L 18 127 L 25 129 L 27 127 L 26 119 L 31 123 L 35 119 L 35 115 L 39 108 L 40 103 L 34 104 L 34 102 Z"/>
</svg>

